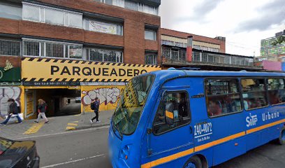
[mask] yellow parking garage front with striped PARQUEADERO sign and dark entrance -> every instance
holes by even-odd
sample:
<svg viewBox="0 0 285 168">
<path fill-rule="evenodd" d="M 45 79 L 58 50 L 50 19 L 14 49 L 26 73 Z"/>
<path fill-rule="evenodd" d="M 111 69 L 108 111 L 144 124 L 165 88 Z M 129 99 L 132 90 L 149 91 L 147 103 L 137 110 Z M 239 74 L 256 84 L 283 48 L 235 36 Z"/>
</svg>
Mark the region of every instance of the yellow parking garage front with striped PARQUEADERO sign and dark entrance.
<svg viewBox="0 0 285 168">
<path fill-rule="evenodd" d="M 131 78 L 160 69 L 154 65 L 25 57 L 24 116 L 35 116 L 37 99 L 47 102 L 47 116 L 92 111 L 89 105 L 95 97 L 101 111 L 115 109 L 119 94 Z"/>
</svg>

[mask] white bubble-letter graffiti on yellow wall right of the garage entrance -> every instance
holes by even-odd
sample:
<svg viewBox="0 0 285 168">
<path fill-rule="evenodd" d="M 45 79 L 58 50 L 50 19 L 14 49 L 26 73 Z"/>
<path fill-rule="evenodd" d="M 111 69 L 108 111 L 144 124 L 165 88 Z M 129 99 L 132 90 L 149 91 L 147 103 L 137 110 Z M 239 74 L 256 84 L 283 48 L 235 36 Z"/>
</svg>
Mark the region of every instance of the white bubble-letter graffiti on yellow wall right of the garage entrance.
<svg viewBox="0 0 285 168">
<path fill-rule="evenodd" d="M 117 87 L 82 91 L 82 94 L 85 94 L 85 96 L 82 97 L 82 104 L 88 106 L 95 100 L 96 97 L 98 97 L 100 104 L 115 104 L 117 99 L 119 99 L 120 92 L 121 90 L 119 90 Z"/>
</svg>

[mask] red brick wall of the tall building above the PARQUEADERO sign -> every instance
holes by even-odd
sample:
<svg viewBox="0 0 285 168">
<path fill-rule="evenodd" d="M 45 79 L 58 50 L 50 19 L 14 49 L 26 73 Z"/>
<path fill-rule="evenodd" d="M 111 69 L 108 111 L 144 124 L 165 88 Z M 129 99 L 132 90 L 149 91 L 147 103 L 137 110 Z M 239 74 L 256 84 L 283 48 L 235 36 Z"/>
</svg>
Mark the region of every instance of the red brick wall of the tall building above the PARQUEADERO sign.
<svg viewBox="0 0 285 168">
<path fill-rule="evenodd" d="M 120 46 L 124 47 L 124 63 L 144 64 L 145 50 L 150 48 L 149 44 L 145 44 L 145 25 L 155 25 L 157 27 L 160 27 L 161 25 L 161 19 L 159 16 L 127 10 L 117 6 L 110 6 L 104 3 L 97 3 L 92 0 L 39 1 L 56 6 L 65 6 L 67 8 L 122 18 L 124 19 L 124 36 L 103 34 L 93 31 L 85 31 L 84 29 L 49 25 L 39 22 L 8 20 L 3 18 L 0 18 L 0 33 L 20 34 L 35 37 L 40 36 L 45 38 L 57 38 L 62 40 Z M 151 48 L 158 50 L 160 58 L 161 45 L 159 32 L 157 39 L 157 41 L 151 44 Z"/>
</svg>

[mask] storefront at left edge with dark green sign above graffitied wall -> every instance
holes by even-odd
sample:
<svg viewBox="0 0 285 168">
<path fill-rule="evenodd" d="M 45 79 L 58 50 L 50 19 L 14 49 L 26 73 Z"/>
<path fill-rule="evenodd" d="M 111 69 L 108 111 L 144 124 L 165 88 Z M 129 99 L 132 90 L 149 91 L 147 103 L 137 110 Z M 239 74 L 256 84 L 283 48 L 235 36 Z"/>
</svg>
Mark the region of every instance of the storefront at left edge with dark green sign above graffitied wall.
<svg viewBox="0 0 285 168">
<path fill-rule="evenodd" d="M 22 106 L 20 58 L 0 56 L 0 113 L 8 113 L 8 99 L 15 99 Z M 20 108 L 21 109 L 21 108 Z"/>
</svg>

